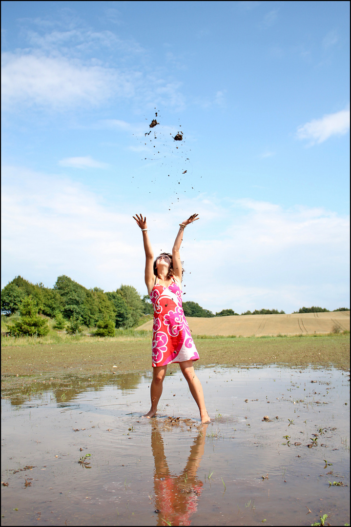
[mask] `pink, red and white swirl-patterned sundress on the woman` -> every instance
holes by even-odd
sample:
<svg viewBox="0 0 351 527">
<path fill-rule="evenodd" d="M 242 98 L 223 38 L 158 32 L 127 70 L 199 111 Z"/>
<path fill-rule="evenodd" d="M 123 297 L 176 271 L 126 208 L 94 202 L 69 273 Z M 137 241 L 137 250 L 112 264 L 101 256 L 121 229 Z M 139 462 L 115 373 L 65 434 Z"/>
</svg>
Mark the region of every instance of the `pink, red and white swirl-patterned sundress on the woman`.
<svg viewBox="0 0 351 527">
<path fill-rule="evenodd" d="M 182 291 L 177 282 L 174 280 L 168 287 L 155 283 L 150 298 L 154 309 L 152 366 L 198 360 L 200 357 L 184 315 Z"/>
</svg>

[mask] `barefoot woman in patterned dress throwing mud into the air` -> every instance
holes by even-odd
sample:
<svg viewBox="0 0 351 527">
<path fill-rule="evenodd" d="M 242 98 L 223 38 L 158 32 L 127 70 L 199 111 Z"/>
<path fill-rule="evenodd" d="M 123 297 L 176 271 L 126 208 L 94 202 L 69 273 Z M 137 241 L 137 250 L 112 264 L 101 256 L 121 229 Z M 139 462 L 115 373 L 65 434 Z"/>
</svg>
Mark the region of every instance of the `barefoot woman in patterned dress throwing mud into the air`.
<svg viewBox="0 0 351 527">
<path fill-rule="evenodd" d="M 135 216 L 137 216 L 135 218 Z M 134 220 L 143 233 L 146 256 L 145 284 L 154 307 L 152 366 L 153 379 L 151 383 L 151 409 L 144 417 L 154 417 L 162 394 L 162 383 L 167 371 L 167 364 L 179 363 L 184 377 L 187 379 L 191 395 L 199 410 L 201 423 L 209 423 L 210 418 L 204 404 L 202 386 L 195 375 L 193 360 L 198 360 L 199 354 L 191 337 L 187 320 L 182 308 L 182 264 L 179 249 L 183 239 L 184 229 L 189 223 L 198 219 L 198 214 L 180 223 L 180 228 L 174 241 L 172 254 L 163 252 L 153 261 L 153 251 L 148 235 L 146 217 L 135 214 Z"/>
</svg>

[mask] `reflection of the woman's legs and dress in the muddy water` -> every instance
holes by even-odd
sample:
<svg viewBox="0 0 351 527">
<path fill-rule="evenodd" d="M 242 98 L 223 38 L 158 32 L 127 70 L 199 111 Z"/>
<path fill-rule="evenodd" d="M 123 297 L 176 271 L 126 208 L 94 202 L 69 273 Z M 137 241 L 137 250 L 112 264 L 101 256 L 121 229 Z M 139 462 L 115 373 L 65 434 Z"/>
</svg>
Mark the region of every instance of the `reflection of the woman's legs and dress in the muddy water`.
<svg viewBox="0 0 351 527">
<path fill-rule="evenodd" d="M 163 439 L 157 423 L 151 434 L 151 448 L 155 462 L 154 496 L 158 512 L 158 525 L 164 520 L 171 525 L 190 525 L 190 516 L 198 508 L 198 496 L 201 494 L 202 481 L 196 473 L 200 466 L 207 425 L 201 426 L 198 436 L 190 448 L 190 454 L 184 470 L 179 476 L 171 474 L 164 454 Z"/>
</svg>

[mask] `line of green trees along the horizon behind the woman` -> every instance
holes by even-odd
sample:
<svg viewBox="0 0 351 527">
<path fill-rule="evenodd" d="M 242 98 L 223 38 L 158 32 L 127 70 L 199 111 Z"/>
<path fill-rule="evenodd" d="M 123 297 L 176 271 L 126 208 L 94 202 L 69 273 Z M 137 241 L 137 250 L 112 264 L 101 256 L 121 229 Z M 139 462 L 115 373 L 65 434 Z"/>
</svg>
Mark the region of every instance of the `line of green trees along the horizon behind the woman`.
<svg viewBox="0 0 351 527">
<path fill-rule="evenodd" d="M 222 309 L 216 314 L 197 302 L 183 302 L 187 317 L 220 317 L 238 315 L 233 309 Z M 336 311 L 348 310 L 339 308 Z M 95 335 L 114 335 L 115 328 L 132 328 L 144 315 L 152 315 L 148 295 L 141 297 L 133 286 L 121 285 L 115 291 L 104 292 L 99 287 L 87 289 L 71 278 L 61 275 L 53 288 L 42 283 L 32 284 L 21 276 L 15 277 L 1 291 L 2 315 L 21 315 L 10 325 L 9 333 L 42 336 L 48 333 L 47 321 L 40 315 L 55 319 L 56 329 L 76 333 L 81 326 L 96 327 Z M 294 313 L 328 311 L 320 307 L 301 308 Z M 241 315 L 284 314 L 277 309 L 246 311 Z M 46 331 L 46 333 L 45 333 Z"/>
</svg>

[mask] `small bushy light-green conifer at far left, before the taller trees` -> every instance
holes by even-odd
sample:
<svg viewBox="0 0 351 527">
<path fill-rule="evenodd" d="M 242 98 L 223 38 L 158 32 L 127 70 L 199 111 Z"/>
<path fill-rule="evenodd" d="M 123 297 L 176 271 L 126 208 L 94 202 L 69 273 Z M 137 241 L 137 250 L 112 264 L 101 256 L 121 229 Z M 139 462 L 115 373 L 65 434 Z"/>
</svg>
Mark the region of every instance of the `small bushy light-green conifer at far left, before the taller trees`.
<svg viewBox="0 0 351 527">
<path fill-rule="evenodd" d="M 23 299 L 19 312 L 21 313 L 19 320 L 13 325 L 8 325 L 11 335 L 43 337 L 48 334 L 47 320 L 38 315 L 36 300 L 31 295 Z"/>
</svg>

